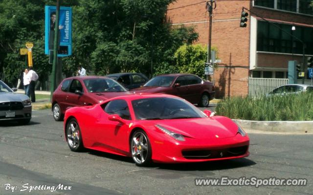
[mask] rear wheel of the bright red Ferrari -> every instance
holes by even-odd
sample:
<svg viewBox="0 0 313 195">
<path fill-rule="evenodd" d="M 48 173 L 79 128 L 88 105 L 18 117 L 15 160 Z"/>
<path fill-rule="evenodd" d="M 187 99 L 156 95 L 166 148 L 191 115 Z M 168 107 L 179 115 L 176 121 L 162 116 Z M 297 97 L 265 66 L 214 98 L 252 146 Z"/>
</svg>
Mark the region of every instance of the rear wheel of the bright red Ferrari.
<svg viewBox="0 0 313 195">
<path fill-rule="evenodd" d="M 84 148 L 82 134 L 75 118 L 71 118 L 67 123 L 67 144 L 69 149 L 74 152 L 79 152 Z"/>
</svg>

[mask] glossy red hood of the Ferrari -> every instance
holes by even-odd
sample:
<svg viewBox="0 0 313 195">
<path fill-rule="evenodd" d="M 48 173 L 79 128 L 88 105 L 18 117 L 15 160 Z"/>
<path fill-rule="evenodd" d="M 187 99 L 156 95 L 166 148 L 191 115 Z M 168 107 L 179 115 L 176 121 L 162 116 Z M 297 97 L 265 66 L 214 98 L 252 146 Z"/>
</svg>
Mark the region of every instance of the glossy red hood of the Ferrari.
<svg viewBox="0 0 313 195">
<path fill-rule="evenodd" d="M 157 124 L 195 139 L 234 137 L 238 131 L 237 124 L 226 117 L 159 120 Z"/>
</svg>

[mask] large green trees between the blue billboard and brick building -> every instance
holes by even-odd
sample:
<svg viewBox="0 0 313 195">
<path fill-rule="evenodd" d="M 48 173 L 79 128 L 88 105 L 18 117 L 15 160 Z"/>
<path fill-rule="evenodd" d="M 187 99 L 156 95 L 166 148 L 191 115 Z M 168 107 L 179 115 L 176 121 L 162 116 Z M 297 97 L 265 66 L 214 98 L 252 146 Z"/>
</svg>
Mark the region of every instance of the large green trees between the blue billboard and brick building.
<svg viewBox="0 0 313 195">
<path fill-rule="evenodd" d="M 134 71 L 152 76 L 153 63 L 155 74 L 169 70 L 177 48 L 198 38 L 193 28 L 172 28 L 165 16 L 171 2 L 81 0 L 73 7 L 73 56 L 64 68 L 73 71 L 82 63 L 97 75 Z"/>
</svg>

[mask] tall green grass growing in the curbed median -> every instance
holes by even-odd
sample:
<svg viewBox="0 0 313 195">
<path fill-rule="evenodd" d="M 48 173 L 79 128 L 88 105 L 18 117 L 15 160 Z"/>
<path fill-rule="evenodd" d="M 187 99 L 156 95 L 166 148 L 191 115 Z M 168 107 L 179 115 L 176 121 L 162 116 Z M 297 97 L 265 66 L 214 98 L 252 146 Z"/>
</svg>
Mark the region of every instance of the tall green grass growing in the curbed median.
<svg viewBox="0 0 313 195">
<path fill-rule="evenodd" d="M 218 115 L 244 120 L 313 120 L 313 93 L 259 98 L 225 98 L 217 104 L 216 112 Z"/>
</svg>

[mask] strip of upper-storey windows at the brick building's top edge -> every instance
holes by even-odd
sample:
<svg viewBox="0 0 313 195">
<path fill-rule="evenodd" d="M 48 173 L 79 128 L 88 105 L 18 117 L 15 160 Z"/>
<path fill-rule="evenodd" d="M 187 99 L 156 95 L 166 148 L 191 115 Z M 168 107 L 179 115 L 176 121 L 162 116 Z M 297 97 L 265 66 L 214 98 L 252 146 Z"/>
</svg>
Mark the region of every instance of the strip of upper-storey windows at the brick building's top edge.
<svg viewBox="0 0 313 195">
<path fill-rule="evenodd" d="M 313 15 L 312 0 L 254 0 L 254 5 Z M 297 7 L 299 9 L 297 10 Z"/>
</svg>

